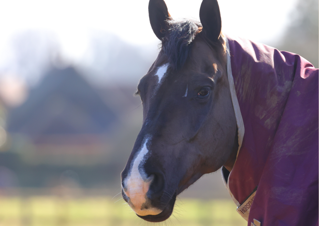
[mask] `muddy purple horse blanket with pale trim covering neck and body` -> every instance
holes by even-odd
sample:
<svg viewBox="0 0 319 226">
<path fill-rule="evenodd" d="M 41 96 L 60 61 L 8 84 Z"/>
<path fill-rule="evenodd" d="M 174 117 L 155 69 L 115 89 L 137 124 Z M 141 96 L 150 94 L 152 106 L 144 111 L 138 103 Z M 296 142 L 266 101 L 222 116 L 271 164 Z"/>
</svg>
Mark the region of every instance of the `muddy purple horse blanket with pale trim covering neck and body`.
<svg viewBox="0 0 319 226">
<path fill-rule="evenodd" d="M 222 175 L 237 212 L 248 225 L 318 225 L 318 69 L 299 55 L 226 38 L 240 148 Z"/>
</svg>

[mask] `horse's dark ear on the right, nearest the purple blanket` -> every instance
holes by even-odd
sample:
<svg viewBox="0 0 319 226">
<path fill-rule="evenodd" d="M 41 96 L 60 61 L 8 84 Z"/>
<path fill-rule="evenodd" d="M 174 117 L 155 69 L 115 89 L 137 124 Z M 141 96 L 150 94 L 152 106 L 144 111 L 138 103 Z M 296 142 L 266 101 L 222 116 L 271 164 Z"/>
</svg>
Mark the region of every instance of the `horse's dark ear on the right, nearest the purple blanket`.
<svg viewBox="0 0 319 226">
<path fill-rule="evenodd" d="M 217 41 L 221 33 L 221 18 L 217 0 L 203 0 L 199 19 L 205 35 L 212 41 Z"/>
</svg>

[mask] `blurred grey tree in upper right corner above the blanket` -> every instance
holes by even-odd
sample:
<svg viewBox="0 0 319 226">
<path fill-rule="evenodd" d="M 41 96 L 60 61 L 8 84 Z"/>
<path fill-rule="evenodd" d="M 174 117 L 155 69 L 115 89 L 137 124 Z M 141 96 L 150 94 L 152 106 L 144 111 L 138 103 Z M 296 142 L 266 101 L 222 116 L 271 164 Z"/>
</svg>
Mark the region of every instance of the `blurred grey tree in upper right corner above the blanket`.
<svg viewBox="0 0 319 226">
<path fill-rule="evenodd" d="M 318 68 L 318 0 L 299 0 L 296 6 L 282 40 L 273 46 L 296 53 Z"/>
</svg>

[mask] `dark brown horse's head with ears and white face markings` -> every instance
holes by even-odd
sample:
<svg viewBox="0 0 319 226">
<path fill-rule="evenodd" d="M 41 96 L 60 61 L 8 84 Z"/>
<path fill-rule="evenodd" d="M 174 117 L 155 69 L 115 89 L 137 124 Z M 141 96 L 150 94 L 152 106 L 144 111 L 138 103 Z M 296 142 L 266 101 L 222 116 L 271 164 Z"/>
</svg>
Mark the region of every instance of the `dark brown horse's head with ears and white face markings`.
<svg viewBox="0 0 319 226">
<path fill-rule="evenodd" d="M 122 196 L 140 218 L 160 222 L 201 176 L 232 169 L 238 140 L 217 1 L 203 0 L 200 23 L 172 19 L 163 0 L 150 0 L 149 18 L 161 50 L 138 84 L 143 125 Z"/>
</svg>

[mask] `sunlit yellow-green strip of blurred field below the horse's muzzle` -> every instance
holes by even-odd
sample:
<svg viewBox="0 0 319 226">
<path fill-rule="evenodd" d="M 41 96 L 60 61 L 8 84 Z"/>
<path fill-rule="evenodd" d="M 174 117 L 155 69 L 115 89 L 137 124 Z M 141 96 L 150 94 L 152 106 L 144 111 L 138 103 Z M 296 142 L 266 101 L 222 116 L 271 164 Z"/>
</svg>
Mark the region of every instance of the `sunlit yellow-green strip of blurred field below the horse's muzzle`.
<svg viewBox="0 0 319 226">
<path fill-rule="evenodd" d="M 0 196 L 0 226 L 247 225 L 232 200 L 177 200 L 174 214 L 160 224 L 142 221 L 123 200 L 116 200 L 105 196 Z"/>
</svg>

